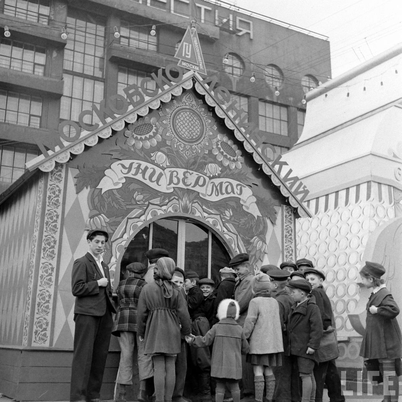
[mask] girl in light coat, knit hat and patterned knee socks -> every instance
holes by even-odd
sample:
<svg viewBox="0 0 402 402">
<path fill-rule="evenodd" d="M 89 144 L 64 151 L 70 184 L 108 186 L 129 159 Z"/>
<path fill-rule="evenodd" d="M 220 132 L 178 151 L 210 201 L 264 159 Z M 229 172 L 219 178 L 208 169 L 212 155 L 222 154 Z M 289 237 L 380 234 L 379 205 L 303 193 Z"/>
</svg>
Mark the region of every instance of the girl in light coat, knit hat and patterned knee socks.
<svg viewBox="0 0 402 402">
<path fill-rule="evenodd" d="M 264 386 L 266 401 L 272 402 L 275 390 L 273 367 L 282 365 L 282 325 L 278 302 L 271 296 L 271 278 L 260 273 L 251 281 L 254 299 L 248 305 L 244 335 L 248 338 L 250 354 L 246 361 L 254 370 L 255 400 L 262 402 Z"/>
</svg>

